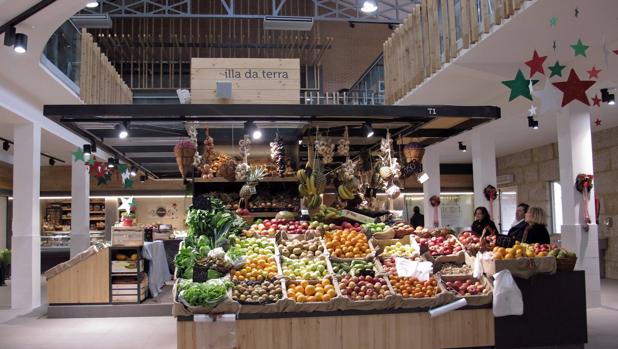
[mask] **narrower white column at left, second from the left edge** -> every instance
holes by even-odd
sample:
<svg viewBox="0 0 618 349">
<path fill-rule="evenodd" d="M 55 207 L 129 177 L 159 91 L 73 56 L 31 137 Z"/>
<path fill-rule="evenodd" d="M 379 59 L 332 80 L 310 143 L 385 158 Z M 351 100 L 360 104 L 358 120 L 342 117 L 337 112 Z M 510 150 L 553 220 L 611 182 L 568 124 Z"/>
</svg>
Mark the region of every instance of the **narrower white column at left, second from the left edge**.
<svg viewBox="0 0 618 349">
<path fill-rule="evenodd" d="M 90 246 L 90 176 L 84 162 L 71 165 L 71 257 Z"/>
</svg>

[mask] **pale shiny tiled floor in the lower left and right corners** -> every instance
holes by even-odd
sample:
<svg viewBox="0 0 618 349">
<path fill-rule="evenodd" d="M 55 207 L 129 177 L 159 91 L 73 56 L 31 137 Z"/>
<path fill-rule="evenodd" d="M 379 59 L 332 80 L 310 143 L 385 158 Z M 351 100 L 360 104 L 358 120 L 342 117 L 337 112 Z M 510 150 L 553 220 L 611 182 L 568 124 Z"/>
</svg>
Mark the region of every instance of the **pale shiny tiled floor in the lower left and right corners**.
<svg viewBox="0 0 618 349">
<path fill-rule="evenodd" d="M 45 294 L 43 284 L 42 293 Z M 602 280 L 603 307 L 588 310 L 589 349 L 618 348 L 618 280 Z M 17 316 L 8 310 L 9 287 L 0 287 L 1 349 L 109 349 L 176 347 L 171 316 L 148 318 L 47 319 L 44 308 Z M 9 320 L 10 319 L 10 320 Z"/>
</svg>

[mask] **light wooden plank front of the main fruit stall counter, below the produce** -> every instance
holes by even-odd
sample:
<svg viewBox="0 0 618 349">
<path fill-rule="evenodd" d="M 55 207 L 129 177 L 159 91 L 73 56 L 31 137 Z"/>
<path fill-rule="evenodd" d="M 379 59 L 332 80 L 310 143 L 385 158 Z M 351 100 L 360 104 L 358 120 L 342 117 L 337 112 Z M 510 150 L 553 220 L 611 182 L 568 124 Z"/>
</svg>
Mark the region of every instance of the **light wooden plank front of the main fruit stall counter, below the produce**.
<svg viewBox="0 0 618 349">
<path fill-rule="evenodd" d="M 197 349 L 215 335 L 212 321 L 179 317 L 177 348 Z M 493 346 L 491 308 L 457 310 L 431 319 L 427 311 L 340 311 L 251 314 L 235 321 L 239 349 L 470 348 Z M 211 338 L 212 339 L 212 338 Z"/>
</svg>

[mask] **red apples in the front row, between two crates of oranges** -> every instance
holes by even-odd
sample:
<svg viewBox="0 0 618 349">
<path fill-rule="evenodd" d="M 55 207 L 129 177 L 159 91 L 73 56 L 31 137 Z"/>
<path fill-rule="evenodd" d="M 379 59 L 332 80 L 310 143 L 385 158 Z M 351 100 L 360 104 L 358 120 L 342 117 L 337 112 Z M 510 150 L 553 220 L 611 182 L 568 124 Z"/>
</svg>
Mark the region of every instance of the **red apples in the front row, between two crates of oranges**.
<svg viewBox="0 0 618 349">
<path fill-rule="evenodd" d="M 339 289 L 344 297 L 353 301 L 378 300 L 391 295 L 386 280 L 371 275 L 346 275 L 339 280 Z"/>
</svg>

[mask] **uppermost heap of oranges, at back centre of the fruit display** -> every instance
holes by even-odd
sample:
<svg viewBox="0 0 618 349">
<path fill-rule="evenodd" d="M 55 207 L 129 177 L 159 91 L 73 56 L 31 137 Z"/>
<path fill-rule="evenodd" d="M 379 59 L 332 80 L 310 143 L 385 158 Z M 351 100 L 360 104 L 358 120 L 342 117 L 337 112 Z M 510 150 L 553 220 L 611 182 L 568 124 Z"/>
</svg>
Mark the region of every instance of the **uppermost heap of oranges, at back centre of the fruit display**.
<svg viewBox="0 0 618 349">
<path fill-rule="evenodd" d="M 365 258 L 371 252 L 359 225 L 344 223 L 343 229 L 324 234 L 324 241 L 331 256 L 337 258 Z"/>
</svg>

